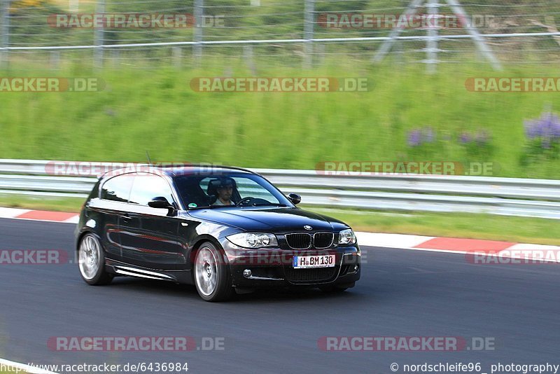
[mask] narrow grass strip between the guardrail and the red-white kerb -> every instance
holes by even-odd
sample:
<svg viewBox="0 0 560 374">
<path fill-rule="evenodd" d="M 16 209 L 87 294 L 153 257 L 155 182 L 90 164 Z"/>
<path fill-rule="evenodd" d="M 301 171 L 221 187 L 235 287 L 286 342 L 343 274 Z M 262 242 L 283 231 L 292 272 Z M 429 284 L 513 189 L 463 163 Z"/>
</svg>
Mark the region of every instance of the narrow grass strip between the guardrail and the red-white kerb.
<svg viewBox="0 0 560 374">
<path fill-rule="evenodd" d="M 79 212 L 83 199 L 32 198 L 0 194 L 0 207 Z M 560 245 L 558 221 L 489 214 L 400 214 L 349 209 L 305 207 L 313 212 L 341 219 L 356 231 L 411 235 L 470 237 L 534 244 Z"/>
</svg>

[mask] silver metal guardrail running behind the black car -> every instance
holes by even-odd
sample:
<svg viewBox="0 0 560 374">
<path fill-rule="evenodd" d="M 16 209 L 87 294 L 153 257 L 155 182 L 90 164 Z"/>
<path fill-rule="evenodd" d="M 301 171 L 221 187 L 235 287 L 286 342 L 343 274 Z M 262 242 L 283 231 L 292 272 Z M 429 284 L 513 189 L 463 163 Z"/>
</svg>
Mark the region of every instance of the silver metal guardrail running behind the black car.
<svg viewBox="0 0 560 374">
<path fill-rule="evenodd" d="M 55 176 L 52 175 L 54 163 L 0 159 L 0 193 L 85 198 L 97 180 L 96 176 L 87 171 L 80 176 Z M 111 162 L 94 164 L 114 165 Z M 254 170 L 279 186 L 281 191 L 300 193 L 306 205 L 560 219 L 560 181 L 555 180 L 421 174 L 325 175 L 314 170 Z"/>
</svg>

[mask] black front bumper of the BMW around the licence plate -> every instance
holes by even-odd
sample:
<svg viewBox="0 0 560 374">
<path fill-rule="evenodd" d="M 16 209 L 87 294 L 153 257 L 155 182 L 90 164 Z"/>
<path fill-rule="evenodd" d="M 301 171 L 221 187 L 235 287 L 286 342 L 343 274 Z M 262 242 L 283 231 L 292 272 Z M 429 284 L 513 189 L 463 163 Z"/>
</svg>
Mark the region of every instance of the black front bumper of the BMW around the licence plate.
<svg viewBox="0 0 560 374">
<path fill-rule="evenodd" d="M 258 289 L 286 286 L 353 284 L 360 279 L 361 252 L 358 244 L 330 249 L 244 249 L 223 238 L 221 245 L 230 266 L 235 287 Z M 335 254 L 334 268 L 293 268 L 293 256 Z M 244 270 L 251 270 L 246 277 Z"/>
</svg>

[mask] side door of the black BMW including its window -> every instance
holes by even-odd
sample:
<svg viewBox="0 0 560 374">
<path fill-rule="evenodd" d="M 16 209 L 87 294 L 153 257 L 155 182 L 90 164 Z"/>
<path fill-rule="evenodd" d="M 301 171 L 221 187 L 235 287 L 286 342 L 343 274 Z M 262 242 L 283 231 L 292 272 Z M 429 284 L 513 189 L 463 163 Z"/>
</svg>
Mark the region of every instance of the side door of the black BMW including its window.
<svg viewBox="0 0 560 374">
<path fill-rule="evenodd" d="M 177 207 L 172 189 L 162 176 L 135 174 L 128 211 L 120 216 L 123 261 L 153 270 L 174 270 L 181 257 L 178 240 L 180 220 L 167 209 L 148 207 L 148 202 L 164 197 Z"/>
</svg>

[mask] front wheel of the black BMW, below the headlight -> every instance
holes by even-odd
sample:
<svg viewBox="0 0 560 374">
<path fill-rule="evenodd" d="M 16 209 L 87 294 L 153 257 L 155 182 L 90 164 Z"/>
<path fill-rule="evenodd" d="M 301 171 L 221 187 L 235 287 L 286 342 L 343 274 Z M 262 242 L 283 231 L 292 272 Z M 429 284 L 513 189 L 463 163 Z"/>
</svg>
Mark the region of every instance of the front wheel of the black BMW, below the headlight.
<svg viewBox="0 0 560 374">
<path fill-rule="evenodd" d="M 221 251 L 211 242 L 201 244 L 193 264 L 195 287 L 206 301 L 222 301 L 232 297 L 231 275 Z"/>
</svg>

